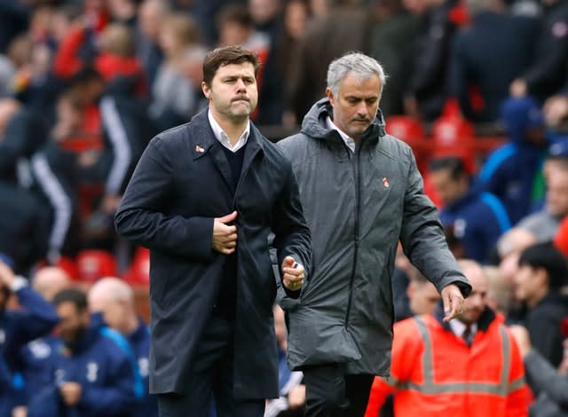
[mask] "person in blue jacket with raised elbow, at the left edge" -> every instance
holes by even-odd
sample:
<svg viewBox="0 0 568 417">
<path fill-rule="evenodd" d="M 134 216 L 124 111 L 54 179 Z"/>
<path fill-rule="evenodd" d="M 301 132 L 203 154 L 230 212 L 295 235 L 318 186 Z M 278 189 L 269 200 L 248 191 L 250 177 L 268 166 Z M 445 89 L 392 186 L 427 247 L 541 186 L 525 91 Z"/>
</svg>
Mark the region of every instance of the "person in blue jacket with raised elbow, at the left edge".
<svg viewBox="0 0 568 417">
<path fill-rule="evenodd" d="M 17 297 L 21 310 L 8 310 L 10 295 Z M 0 415 L 11 416 L 12 407 L 21 405 L 16 398 L 14 373 L 20 349 L 37 337 L 48 334 L 58 323 L 53 306 L 28 287 L 28 281 L 14 275 L 0 261 Z"/>
</svg>

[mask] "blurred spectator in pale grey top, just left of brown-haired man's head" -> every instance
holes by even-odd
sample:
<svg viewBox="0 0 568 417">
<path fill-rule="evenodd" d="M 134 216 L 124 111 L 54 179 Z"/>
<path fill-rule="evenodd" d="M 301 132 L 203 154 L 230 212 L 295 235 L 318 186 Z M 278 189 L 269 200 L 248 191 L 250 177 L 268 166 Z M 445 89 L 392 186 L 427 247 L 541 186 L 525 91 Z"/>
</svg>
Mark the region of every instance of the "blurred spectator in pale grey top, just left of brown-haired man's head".
<svg viewBox="0 0 568 417">
<path fill-rule="evenodd" d="M 201 92 L 185 75 L 185 56 L 200 43 L 199 27 L 191 16 L 176 14 L 163 21 L 160 45 L 164 59 L 152 85 L 149 109 L 157 130 L 185 123 L 194 114 Z"/>
</svg>

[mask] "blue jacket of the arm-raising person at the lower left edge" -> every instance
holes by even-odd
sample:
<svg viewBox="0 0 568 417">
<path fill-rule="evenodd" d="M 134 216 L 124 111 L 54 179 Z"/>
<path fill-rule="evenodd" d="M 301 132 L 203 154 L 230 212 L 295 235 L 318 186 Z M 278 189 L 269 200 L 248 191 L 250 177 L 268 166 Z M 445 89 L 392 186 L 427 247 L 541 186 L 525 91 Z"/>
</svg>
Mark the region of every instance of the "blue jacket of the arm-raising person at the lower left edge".
<svg viewBox="0 0 568 417">
<path fill-rule="evenodd" d="M 17 292 L 21 311 L 0 312 L 0 417 L 10 417 L 12 407 L 20 405 L 20 378 L 15 373 L 18 353 L 29 341 L 48 334 L 58 323 L 51 303 L 29 287 Z"/>
</svg>

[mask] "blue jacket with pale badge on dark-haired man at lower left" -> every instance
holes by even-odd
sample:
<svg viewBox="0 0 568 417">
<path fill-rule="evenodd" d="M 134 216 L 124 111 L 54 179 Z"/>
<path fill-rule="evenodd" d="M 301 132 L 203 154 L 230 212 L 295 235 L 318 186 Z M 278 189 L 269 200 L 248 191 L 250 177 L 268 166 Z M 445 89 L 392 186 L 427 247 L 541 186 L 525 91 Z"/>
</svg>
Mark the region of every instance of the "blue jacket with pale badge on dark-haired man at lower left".
<svg viewBox="0 0 568 417">
<path fill-rule="evenodd" d="M 28 417 L 122 417 L 135 404 L 135 378 L 131 358 L 120 334 L 107 327 L 89 327 L 72 349 L 59 343 L 53 356 L 54 382 L 29 403 Z M 79 403 L 68 407 L 59 396 L 63 382 L 78 382 Z"/>
</svg>

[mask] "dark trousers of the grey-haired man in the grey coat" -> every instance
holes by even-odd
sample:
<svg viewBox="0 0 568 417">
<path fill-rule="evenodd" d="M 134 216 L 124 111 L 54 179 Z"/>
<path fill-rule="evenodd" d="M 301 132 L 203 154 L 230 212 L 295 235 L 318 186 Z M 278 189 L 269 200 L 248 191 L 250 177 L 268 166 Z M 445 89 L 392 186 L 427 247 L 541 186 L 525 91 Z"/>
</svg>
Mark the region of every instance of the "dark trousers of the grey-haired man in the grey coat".
<svg viewBox="0 0 568 417">
<path fill-rule="evenodd" d="M 305 366 L 306 417 L 362 417 L 374 375 L 346 374 L 344 364 Z"/>
</svg>

